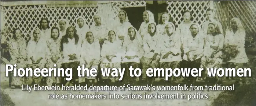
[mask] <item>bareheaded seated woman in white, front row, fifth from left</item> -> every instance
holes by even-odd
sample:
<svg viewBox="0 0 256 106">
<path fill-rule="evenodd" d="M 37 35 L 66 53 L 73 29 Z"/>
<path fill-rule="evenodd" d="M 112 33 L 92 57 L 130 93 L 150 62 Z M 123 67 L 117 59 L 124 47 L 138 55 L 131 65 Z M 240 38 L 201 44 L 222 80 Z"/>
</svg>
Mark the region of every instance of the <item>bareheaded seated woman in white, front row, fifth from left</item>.
<svg viewBox="0 0 256 106">
<path fill-rule="evenodd" d="M 82 66 L 82 64 L 85 64 L 85 67 L 89 68 L 89 70 L 91 68 L 96 68 L 98 70 L 99 69 L 98 64 L 100 63 L 99 40 L 94 38 L 92 31 L 89 31 L 86 33 L 86 40 L 87 41 L 85 41 L 82 44 L 82 48 L 81 48 L 82 54 L 81 54 L 80 66 Z M 85 73 L 85 74 L 89 74 L 89 73 Z M 84 79 L 88 79 L 88 80 L 84 80 Z M 90 75 L 89 77 L 85 77 L 85 78 L 79 77 L 79 83 L 89 82 L 89 80 L 92 80 L 91 84 L 94 85 L 95 79 L 96 77 L 92 77 Z"/>
</svg>

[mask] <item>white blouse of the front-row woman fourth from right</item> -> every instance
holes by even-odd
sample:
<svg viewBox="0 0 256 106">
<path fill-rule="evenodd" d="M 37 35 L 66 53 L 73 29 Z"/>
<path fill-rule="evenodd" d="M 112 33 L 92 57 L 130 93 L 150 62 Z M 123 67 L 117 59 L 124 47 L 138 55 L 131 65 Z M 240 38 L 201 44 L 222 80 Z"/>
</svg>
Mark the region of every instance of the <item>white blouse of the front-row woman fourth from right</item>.
<svg viewBox="0 0 256 106">
<path fill-rule="evenodd" d="M 181 40 L 179 34 L 173 34 L 168 36 L 167 34 L 161 36 L 159 47 L 161 48 L 161 59 L 160 62 L 174 62 L 182 61 L 181 55 L 174 56 L 170 54 L 166 59 L 162 59 L 163 56 L 171 51 L 173 54 L 181 54 L 180 50 Z"/>
</svg>

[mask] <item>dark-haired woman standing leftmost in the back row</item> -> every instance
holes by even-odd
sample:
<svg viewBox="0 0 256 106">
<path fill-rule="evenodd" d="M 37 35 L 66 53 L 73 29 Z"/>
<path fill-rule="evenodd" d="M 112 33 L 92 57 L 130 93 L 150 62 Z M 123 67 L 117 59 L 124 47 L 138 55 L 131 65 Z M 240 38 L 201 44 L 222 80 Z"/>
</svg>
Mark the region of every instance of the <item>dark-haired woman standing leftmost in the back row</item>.
<svg viewBox="0 0 256 106">
<path fill-rule="evenodd" d="M 51 38 L 51 28 L 49 26 L 50 21 L 48 21 L 47 18 L 42 18 L 39 23 L 40 23 L 39 29 L 41 30 L 40 38 L 44 39 L 45 41 L 49 40 Z"/>
</svg>

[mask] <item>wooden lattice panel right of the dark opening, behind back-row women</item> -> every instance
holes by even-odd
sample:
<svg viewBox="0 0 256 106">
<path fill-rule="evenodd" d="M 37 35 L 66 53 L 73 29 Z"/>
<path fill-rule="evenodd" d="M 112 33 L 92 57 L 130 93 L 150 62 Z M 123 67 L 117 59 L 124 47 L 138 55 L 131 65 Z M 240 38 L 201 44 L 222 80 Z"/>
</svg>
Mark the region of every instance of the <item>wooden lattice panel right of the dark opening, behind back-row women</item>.
<svg viewBox="0 0 256 106">
<path fill-rule="evenodd" d="M 176 27 L 182 23 L 182 12 L 190 10 L 191 20 L 202 25 L 206 20 L 206 9 L 209 8 L 209 1 L 168 1 L 167 11 L 175 21 Z"/>
</svg>

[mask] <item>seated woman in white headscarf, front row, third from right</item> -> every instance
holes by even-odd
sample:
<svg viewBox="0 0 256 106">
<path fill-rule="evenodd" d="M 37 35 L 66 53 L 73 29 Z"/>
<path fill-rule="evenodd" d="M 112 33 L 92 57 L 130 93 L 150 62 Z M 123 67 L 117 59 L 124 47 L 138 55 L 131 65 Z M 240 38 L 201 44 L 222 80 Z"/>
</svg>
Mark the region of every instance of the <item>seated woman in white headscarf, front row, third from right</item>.
<svg viewBox="0 0 256 106">
<path fill-rule="evenodd" d="M 197 23 L 192 23 L 189 29 L 191 33 L 188 33 L 189 35 L 184 38 L 183 42 L 184 55 L 181 68 L 200 68 L 205 42 L 204 32 L 201 30 L 200 25 Z M 194 84 L 197 79 L 191 75 L 184 78 L 187 85 L 189 85 L 189 81 L 192 81 L 192 84 Z"/>
</svg>

